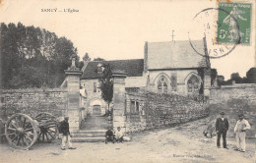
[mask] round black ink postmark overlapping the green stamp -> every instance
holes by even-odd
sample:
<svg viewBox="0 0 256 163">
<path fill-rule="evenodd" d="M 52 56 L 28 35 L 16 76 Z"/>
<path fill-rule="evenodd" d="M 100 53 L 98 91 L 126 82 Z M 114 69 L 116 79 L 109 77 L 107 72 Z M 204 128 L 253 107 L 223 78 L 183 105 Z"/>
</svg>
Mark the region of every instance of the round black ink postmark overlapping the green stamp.
<svg viewBox="0 0 256 163">
<path fill-rule="evenodd" d="M 222 19 L 219 19 L 219 17 L 222 17 Z M 229 18 L 232 21 L 228 31 L 220 31 L 220 28 L 227 24 L 220 21 L 224 18 Z M 221 8 L 208 8 L 202 10 L 193 18 L 189 27 L 188 39 L 197 54 L 209 56 L 212 59 L 221 58 L 231 53 L 239 44 L 241 36 L 239 32 L 235 31 L 239 31 L 239 25 L 232 15 Z M 223 37 L 232 39 L 232 43 L 220 43 L 219 40 Z M 198 45 L 198 41 L 194 41 L 202 40 L 202 38 L 203 48 Z"/>
</svg>

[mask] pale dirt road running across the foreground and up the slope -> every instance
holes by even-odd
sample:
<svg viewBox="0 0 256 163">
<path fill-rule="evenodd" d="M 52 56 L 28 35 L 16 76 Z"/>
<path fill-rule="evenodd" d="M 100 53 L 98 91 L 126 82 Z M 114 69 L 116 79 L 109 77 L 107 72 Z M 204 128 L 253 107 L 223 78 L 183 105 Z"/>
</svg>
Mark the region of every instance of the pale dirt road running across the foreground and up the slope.
<svg viewBox="0 0 256 163">
<path fill-rule="evenodd" d="M 31 150 L 16 150 L 1 144 L 2 163 L 254 163 L 255 139 L 246 139 L 245 153 L 234 151 L 234 138 L 227 137 L 229 149 L 217 148 L 216 137 L 203 136 L 206 119 L 169 129 L 135 134 L 124 143 L 74 143 L 75 150 L 61 150 L 60 140 L 35 143 Z"/>
</svg>

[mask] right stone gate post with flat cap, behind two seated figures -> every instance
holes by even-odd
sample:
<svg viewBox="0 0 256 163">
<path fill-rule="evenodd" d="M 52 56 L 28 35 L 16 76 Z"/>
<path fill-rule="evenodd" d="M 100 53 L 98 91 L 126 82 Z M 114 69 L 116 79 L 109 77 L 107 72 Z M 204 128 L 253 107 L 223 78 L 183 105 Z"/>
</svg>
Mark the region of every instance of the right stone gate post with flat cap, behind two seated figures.
<svg viewBox="0 0 256 163">
<path fill-rule="evenodd" d="M 112 72 L 113 77 L 113 129 L 125 130 L 125 79 L 126 73 Z"/>
</svg>

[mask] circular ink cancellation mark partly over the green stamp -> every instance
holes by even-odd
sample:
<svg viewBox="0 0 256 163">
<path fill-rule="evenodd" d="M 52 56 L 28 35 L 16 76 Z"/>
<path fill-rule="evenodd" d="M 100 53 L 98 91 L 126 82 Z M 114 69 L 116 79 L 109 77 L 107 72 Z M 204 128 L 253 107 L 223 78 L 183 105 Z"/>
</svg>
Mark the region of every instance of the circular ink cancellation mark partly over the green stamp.
<svg viewBox="0 0 256 163">
<path fill-rule="evenodd" d="M 188 38 L 190 41 L 191 47 L 202 56 L 209 56 L 209 58 L 221 58 L 230 54 L 237 44 L 240 42 L 240 36 L 233 39 L 233 43 L 217 43 L 217 31 L 218 28 L 223 27 L 224 23 L 219 22 L 218 14 L 224 13 L 222 15 L 227 15 L 230 18 L 233 18 L 232 15 L 229 15 L 227 11 L 220 8 L 207 8 L 200 11 L 193 18 L 191 22 L 191 27 L 189 29 Z M 233 18 L 235 27 L 239 29 L 239 24 Z M 193 43 L 193 40 L 204 40 L 204 48 L 197 46 Z"/>
</svg>

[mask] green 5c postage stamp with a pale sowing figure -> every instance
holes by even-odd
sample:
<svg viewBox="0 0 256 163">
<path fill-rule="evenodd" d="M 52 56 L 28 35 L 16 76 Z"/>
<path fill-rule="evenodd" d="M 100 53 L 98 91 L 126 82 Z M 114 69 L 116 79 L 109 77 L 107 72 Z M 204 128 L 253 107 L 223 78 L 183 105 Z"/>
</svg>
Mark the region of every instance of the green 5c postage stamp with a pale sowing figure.
<svg viewBox="0 0 256 163">
<path fill-rule="evenodd" d="M 250 45 L 251 17 L 251 3 L 220 2 L 217 42 Z"/>
</svg>

